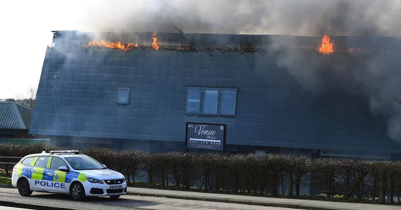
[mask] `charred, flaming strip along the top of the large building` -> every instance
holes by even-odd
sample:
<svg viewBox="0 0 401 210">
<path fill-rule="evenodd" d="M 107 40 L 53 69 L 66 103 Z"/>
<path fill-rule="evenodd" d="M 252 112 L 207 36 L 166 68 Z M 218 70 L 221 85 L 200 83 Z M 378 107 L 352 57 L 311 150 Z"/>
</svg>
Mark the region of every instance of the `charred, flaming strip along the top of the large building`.
<svg viewBox="0 0 401 210">
<path fill-rule="evenodd" d="M 115 48 L 122 50 L 205 51 L 209 55 L 212 55 L 212 53 L 285 52 L 401 55 L 401 38 L 395 37 L 328 35 L 330 39 L 324 40 L 328 37 L 323 35 L 322 37 L 307 37 L 290 35 L 185 34 L 180 29 L 176 29 L 180 33 L 157 32 L 157 35 L 155 32 L 104 32 L 94 34 L 81 31 L 53 31 L 52 46 L 54 48 L 63 46 L 67 48 Z M 332 51 L 319 50 L 319 47 L 325 42 L 332 46 Z M 155 44 L 157 49 L 154 47 Z"/>
</svg>

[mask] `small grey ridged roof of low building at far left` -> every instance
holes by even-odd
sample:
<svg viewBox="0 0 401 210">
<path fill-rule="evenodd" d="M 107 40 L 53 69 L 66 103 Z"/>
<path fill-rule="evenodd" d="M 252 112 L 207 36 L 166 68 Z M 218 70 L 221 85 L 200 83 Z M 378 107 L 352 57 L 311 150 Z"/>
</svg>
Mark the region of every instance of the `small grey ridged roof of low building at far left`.
<svg viewBox="0 0 401 210">
<path fill-rule="evenodd" d="M 29 129 L 33 110 L 15 102 L 0 102 L 0 129 Z"/>
</svg>

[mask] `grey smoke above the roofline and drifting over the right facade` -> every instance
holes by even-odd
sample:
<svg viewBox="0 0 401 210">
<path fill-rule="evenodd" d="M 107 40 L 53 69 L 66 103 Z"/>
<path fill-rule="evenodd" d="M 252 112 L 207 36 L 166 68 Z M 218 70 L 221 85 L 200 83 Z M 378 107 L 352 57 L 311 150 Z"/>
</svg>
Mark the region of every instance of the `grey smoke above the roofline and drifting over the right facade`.
<svg viewBox="0 0 401 210">
<path fill-rule="evenodd" d="M 91 4 L 78 30 L 176 32 L 178 26 L 186 33 L 401 37 L 400 20 L 400 0 L 110 0 Z M 401 105 L 393 99 L 401 98 L 399 63 L 382 65 L 387 61 L 379 57 L 356 59 L 354 66 L 333 58 L 331 72 L 322 71 L 322 60 L 296 53 L 280 55 L 277 65 L 308 90 L 339 86 L 364 94 L 372 113 L 387 119 L 389 136 L 401 142 Z"/>
</svg>

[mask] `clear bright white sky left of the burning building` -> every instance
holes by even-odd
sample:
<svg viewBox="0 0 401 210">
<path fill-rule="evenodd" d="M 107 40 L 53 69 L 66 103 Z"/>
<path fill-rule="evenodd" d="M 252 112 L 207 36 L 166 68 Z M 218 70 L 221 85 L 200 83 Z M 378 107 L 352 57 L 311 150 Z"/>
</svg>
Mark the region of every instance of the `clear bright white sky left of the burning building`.
<svg viewBox="0 0 401 210">
<path fill-rule="evenodd" d="M 0 1 L 0 99 L 15 98 L 26 94 L 31 85 L 38 86 L 46 48 L 53 40 L 51 31 L 82 28 L 78 20 L 86 7 L 80 4 L 77 0 Z"/>
</svg>

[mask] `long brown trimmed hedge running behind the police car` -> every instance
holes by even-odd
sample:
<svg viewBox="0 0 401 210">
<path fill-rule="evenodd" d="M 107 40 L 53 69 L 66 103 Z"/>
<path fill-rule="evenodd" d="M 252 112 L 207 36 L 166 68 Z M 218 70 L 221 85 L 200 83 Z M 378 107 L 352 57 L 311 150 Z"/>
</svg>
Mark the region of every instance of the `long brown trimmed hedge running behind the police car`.
<svg viewBox="0 0 401 210">
<path fill-rule="evenodd" d="M 0 156 L 22 157 L 43 150 L 66 149 L 42 144 L 0 144 Z M 381 187 L 391 183 L 394 196 L 401 196 L 401 161 L 311 159 L 278 154 L 149 153 L 109 148 L 87 148 L 81 153 L 131 180 L 146 178 L 144 182 L 131 181 L 130 186 L 290 197 L 302 197 L 303 191 L 314 195 L 326 191 L 328 198 L 346 200 L 347 195 L 358 198 L 358 192 L 369 192 L 376 198 Z M 364 202 L 369 201 L 366 199 Z"/>
</svg>

